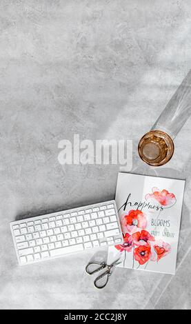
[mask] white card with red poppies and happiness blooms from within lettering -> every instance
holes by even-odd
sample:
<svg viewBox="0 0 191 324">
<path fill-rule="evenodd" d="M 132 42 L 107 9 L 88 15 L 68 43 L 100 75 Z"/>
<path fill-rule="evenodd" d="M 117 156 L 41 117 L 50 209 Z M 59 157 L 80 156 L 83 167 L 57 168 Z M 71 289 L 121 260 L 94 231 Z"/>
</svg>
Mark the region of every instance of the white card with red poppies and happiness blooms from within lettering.
<svg viewBox="0 0 191 324">
<path fill-rule="evenodd" d="M 175 274 L 185 181 L 119 172 L 116 203 L 123 244 L 109 248 L 108 264 Z"/>
</svg>

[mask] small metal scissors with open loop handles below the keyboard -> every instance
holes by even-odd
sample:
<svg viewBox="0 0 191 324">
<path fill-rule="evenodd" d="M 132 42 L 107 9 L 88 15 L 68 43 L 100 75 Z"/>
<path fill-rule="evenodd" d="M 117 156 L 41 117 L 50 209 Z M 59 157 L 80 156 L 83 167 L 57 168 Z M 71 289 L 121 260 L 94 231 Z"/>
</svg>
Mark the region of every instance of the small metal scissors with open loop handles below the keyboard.
<svg viewBox="0 0 191 324">
<path fill-rule="evenodd" d="M 97 272 L 99 272 L 99 271 L 101 271 L 101 270 L 103 270 L 103 269 L 106 268 L 105 272 L 103 272 L 103 274 L 100 274 L 100 276 L 98 276 L 98 277 L 94 280 L 94 286 L 95 286 L 96 288 L 98 288 L 98 289 L 102 289 L 102 288 L 105 287 L 105 285 L 107 285 L 108 280 L 109 280 L 109 277 L 110 277 L 110 275 L 112 274 L 112 268 L 113 268 L 114 266 L 118 265 L 119 263 L 121 263 L 121 261 L 120 261 L 120 262 L 118 262 L 118 261 L 119 261 L 119 259 L 117 259 L 116 261 L 114 261 L 114 262 L 113 262 L 112 264 L 110 264 L 110 265 L 107 265 L 107 263 L 105 263 L 105 262 L 96 262 L 96 261 L 92 261 L 92 262 L 89 262 L 88 265 L 86 265 L 86 273 L 87 273 L 87 274 L 90 274 L 90 275 L 95 274 L 95 273 L 97 273 Z M 90 271 L 89 269 L 90 269 L 90 266 L 91 266 L 91 265 L 100 265 L 100 267 L 98 267 L 96 270 Z M 107 276 L 105 283 L 104 283 L 103 285 L 98 285 L 98 281 L 100 281 L 104 276 Z"/>
</svg>

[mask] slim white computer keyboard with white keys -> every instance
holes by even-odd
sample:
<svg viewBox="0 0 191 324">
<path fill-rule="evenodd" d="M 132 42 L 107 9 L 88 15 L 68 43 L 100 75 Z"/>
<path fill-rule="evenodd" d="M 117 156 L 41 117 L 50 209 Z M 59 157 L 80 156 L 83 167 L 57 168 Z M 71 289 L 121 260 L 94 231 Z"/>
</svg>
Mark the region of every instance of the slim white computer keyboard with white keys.
<svg viewBox="0 0 191 324">
<path fill-rule="evenodd" d="M 123 242 L 115 201 L 10 223 L 19 265 Z"/>
</svg>

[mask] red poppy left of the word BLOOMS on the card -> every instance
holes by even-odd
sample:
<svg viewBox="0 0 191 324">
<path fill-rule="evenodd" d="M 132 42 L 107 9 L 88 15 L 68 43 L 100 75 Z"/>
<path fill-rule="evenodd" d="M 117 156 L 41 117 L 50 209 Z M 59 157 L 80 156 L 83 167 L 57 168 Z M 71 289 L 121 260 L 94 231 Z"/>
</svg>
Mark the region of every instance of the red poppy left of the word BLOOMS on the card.
<svg viewBox="0 0 191 324">
<path fill-rule="evenodd" d="M 134 233 L 137 231 L 137 227 L 145 228 L 148 225 L 146 216 L 141 210 L 130 210 L 128 214 L 125 214 L 121 219 L 121 227 L 123 232 Z"/>
</svg>

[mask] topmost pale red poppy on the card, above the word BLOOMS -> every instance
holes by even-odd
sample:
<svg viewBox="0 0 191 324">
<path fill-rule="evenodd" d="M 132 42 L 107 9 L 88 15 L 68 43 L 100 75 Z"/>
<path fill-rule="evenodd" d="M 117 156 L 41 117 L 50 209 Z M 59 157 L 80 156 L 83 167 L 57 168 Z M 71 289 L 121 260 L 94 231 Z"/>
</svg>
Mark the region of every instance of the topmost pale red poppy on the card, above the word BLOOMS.
<svg viewBox="0 0 191 324">
<path fill-rule="evenodd" d="M 149 199 L 155 199 L 157 200 L 161 205 L 163 206 L 172 206 L 174 205 L 174 203 L 176 203 L 176 197 L 174 196 L 174 194 L 172 194 L 171 192 L 168 192 L 168 190 L 159 190 L 158 188 L 152 188 L 152 194 L 146 194 L 145 195 L 145 199 L 149 200 Z"/>
</svg>

